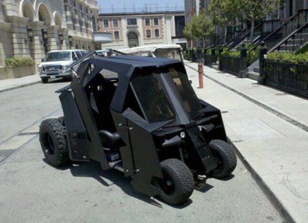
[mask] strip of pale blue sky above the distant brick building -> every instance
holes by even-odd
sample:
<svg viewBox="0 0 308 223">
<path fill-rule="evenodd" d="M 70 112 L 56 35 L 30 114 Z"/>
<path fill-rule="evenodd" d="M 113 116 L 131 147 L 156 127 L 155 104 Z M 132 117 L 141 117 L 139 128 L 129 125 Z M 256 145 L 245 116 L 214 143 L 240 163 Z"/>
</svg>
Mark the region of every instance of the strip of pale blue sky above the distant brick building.
<svg viewBox="0 0 308 223">
<path fill-rule="evenodd" d="M 169 10 L 184 10 L 184 0 L 98 0 L 101 12 L 111 12 L 112 5 L 114 12 L 124 12 L 124 4 L 126 11 L 133 11 L 133 8 L 141 11 L 145 4 L 147 4 L 147 9 L 152 11 L 156 8 L 165 11 L 167 7 Z"/>
</svg>

